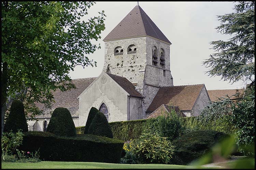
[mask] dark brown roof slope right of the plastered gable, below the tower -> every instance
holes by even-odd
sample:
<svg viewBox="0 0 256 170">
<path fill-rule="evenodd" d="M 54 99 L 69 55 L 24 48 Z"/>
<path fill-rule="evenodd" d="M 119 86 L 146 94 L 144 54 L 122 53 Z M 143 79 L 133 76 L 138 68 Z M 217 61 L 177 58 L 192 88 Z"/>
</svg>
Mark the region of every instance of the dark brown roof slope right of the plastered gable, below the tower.
<svg viewBox="0 0 256 170">
<path fill-rule="evenodd" d="M 132 83 L 125 77 L 107 73 L 117 84 L 119 84 L 130 96 L 142 97 Z"/>
</svg>

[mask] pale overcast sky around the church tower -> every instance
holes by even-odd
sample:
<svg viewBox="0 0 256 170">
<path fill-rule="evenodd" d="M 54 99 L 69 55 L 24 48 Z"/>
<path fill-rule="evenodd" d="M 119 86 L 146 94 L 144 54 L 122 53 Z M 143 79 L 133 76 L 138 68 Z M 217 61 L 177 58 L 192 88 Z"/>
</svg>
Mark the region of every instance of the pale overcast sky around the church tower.
<svg viewBox="0 0 256 170">
<path fill-rule="evenodd" d="M 130 2 L 96 2 L 84 18 L 98 16 L 99 11 L 106 14 L 105 27 L 101 33 L 101 49 L 88 55 L 97 61 L 97 67 L 75 67 L 70 72 L 71 79 L 98 77 L 104 64 L 104 41 L 112 29 L 137 5 Z M 229 35 L 217 33 L 215 29 L 220 22 L 216 15 L 234 12 L 233 2 L 139 2 L 141 8 L 152 19 L 156 26 L 171 41 L 170 62 L 173 85 L 205 84 L 207 90 L 238 89 L 245 87 L 245 83 L 229 83 L 221 77 L 210 77 L 205 74 L 208 69 L 202 62 L 209 58 L 210 41 L 227 40 Z"/>
</svg>

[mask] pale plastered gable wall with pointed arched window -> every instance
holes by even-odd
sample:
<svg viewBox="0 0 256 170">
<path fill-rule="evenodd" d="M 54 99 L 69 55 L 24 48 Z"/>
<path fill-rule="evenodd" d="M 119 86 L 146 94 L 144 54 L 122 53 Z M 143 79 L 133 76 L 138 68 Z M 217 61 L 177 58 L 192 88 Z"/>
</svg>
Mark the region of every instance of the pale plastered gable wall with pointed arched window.
<svg viewBox="0 0 256 170">
<path fill-rule="evenodd" d="M 99 109 L 102 102 L 108 107 L 109 122 L 127 120 L 127 92 L 103 73 L 79 98 L 79 126 L 85 126 L 91 107 Z"/>
</svg>

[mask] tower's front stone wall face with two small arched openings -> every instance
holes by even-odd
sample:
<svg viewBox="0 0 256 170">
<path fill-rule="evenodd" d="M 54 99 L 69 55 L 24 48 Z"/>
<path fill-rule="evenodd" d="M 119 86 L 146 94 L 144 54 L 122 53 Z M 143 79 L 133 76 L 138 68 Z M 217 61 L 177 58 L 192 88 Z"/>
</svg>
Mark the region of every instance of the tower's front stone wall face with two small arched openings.
<svg viewBox="0 0 256 170">
<path fill-rule="evenodd" d="M 136 53 L 127 54 L 128 47 L 135 45 Z M 116 47 L 122 47 L 123 55 L 114 55 Z M 130 38 L 105 42 L 105 58 L 103 70 L 111 74 L 123 76 L 142 92 L 146 65 L 146 37 Z"/>
</svg>

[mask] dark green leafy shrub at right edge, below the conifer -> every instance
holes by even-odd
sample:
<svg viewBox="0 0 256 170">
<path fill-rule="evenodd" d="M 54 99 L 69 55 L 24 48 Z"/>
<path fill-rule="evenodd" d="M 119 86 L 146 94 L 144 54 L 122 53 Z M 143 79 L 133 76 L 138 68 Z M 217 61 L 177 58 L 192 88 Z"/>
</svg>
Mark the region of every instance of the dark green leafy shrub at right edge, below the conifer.
<svg viewBox="0 0 256 170">
<path fill-rule="evenodd" d="M 241 100 L 236 107 L 233 108 L 233 123 L 238 129 L 237 145 L 246 146 L 254 145 L 255 140 L 255 94 L 254 85 L 247 87 L 244 99 Z M 245 150 L 241 148 L 245 154 Z"/>
</svg>

